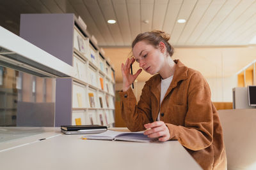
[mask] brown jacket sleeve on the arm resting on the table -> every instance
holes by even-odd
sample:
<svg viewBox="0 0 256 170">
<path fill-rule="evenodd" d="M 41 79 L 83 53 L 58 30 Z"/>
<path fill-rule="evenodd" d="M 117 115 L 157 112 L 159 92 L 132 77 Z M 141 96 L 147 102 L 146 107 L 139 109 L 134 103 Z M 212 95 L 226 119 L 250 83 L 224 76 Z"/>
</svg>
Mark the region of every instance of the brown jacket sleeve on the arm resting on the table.
<svg viewBox="0 0 256 170">
<path fill-rule="evenodd" d="M 166 124 L 170 139 L 177 139 L 189 150 L 202 150 L 213 140 L 211 90 L 200 73 L 191 76 L 188 87 L 188 112 L 184 127 Z"/>
</svg>

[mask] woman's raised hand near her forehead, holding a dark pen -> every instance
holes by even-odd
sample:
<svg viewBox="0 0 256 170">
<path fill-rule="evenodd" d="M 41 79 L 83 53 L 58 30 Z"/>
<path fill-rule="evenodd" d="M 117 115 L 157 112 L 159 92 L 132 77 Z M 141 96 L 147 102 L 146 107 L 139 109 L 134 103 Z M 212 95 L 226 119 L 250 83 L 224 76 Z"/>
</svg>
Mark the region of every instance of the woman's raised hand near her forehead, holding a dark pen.
<svg viewBox="0 0 256 170">
<path fill-rule="evenodd" d="M 123 92 L 126 92 L 131 84 L 136 80 L 138 75 L 141 73 L 142 69 L 139 69 L 135 74 L 130 73 L 131 64 L 133 64 L 135 59 L 132 57 L 132 59 L 127 59 L 125 64 L 122 63 L 121 71 L 123 76 Z"/>
</svg>

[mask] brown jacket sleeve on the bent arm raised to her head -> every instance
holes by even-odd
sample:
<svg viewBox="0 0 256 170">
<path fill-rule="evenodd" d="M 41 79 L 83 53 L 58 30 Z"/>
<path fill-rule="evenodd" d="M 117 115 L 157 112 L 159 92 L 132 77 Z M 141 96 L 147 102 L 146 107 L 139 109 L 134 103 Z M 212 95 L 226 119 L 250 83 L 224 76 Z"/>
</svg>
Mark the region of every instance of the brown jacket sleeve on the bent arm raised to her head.
<svg viewBox="0 0 256 170">
<path fill-rule="evenodd" d="M 136 104 L 131 87 L 126 92 L 119 92 L 121 99 L 122 118 L 130 131 L 145 130 L 144 124 L 152 122 L 150 107 L 150 87 L 147 83 L 142 89 L 140 101 Z"/>
</svg>

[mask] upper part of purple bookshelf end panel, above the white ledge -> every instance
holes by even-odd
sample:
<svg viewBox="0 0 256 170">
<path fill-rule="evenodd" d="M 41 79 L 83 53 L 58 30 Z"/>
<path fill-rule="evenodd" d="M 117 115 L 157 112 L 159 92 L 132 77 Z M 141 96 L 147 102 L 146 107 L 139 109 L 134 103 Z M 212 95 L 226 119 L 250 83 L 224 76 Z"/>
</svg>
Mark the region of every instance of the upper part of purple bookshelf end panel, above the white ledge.
<svg viewBox="0 0 256 170">
<path fill-rule="evenodd" d="M 72 66 L 74 14 L 21 14 L 20 37 Z M 29 49 L 28 49 L 29 50 Z"/>
</svg>

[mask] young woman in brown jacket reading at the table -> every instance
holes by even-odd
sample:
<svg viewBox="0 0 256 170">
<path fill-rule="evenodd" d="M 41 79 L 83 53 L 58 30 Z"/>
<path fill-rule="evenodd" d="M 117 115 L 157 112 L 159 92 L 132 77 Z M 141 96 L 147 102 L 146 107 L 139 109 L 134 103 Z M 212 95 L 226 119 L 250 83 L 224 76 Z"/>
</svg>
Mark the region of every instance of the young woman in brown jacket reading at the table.
<svg viewBox="0 0 256 170">
<path fill-rule="evenodd" d="M 138 34 L 134 58 L 122 64 L 122 117 L 131 131 L 143 131 L 159 141 L 178 140 L 203 169 L 227 169 L 223 132 L 211 91 L 202 74 L 172 60 L 170 36 L 163 31 Z M 136 103 L 130 74 L 134 61 L 154 76 L 146 81 Z M 171 152 L 171 151 L 170 151 Z"/>
</svg>

